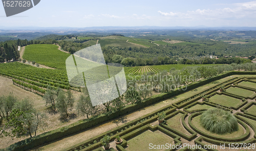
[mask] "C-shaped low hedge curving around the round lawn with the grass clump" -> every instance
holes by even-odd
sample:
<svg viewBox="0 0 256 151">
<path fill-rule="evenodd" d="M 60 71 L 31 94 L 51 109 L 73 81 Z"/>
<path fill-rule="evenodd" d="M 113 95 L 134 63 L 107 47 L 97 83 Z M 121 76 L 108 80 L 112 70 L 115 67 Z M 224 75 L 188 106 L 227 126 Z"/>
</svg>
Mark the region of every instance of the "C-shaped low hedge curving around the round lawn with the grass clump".
<svg viewBox="0 0 256 151">
<path fill-rule="evenodd" d="M 197 113 L 193 113 L 191 114 L 191 116 L 188 117 L 188 124 L 189 126 L 194 130 L 196 131 L 198 134 L 202 135 L 202 136 L 205 136 L 207 138 L 211 138 L 211 139 L 215 139 L 215 140 L 219 140 L 219 141 L 227 141 L 227 142 L 239 142 L 239 141 L 242 141 L 242 140 L 245 140 L 247 139 L 249 136 L 250 136 L 250 130 L 248 128 L 248 126 L 243 123 L 241 120 L 238 119 L 238 122 L 245 128 L 246 130 L 246 133 L 240 137 L 237 137 L 237 138 L 223 138 L 223 137 L 217 137 L 217 136 L 212 136 L 212 135 L 209 135 L 207 133 L 204 133 L 202 131 L 200 131 L 196 126 L 194 126 L 191 122 L 191 120 L 196 117 L 196 116 L 199 116 L 201 115 L 203 112 L 197 112 Z"/>
</svg>

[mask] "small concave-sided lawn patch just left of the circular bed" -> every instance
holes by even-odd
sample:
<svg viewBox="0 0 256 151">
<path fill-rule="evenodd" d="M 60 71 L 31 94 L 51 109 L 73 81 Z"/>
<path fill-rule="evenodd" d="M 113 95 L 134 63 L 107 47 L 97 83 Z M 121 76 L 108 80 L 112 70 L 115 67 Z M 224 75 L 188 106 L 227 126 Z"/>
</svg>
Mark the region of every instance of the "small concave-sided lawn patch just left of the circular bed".
<svg viewBox="0 0 256 151">
<path fill-rule="evenodd" d="M 182 123 L 181 123 L 181 117 L 183 116 L 183 114 L 179 113 L 177 115 L 175 115 L 174 117 L 170 118 L 167 120 L 167 125 L 169 127 L 174 128 L 175 130 L 184 133 L 186 135 L 191 135 L 189 132 L 186 131 L 186 129 L 183 127 Z"/>
</svg>

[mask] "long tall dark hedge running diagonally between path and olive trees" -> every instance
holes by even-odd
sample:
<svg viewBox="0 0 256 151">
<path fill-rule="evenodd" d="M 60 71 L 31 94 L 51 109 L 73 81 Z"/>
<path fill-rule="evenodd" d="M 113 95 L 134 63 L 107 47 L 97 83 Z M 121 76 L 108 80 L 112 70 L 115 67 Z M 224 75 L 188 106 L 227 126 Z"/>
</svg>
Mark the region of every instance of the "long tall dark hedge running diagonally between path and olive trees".
<svg viewBox="0 0 256 151">
<path fill-rule="evenodd" d="M 215 77 L 207 78 L 204 80 L 200 80 L 200 81 L 188 84 L 186 91 L 193 90 L 193 89 L 198 88 L 204 84 L 210 83 L 215 80 L 222 79 L 222 78 L 230 76 L 230 75 L 256 75 L 256 72 L 239 72 L 239 71 L 226 72 L 226 73 L 220 74 Z M 172 91 L 169 93 L 162 93 L 159 95 L 154 95 L 150 98 L 143 100 L 141 103 L 126 105 L 123 110 L 118 111 L 116 113 L 112 113 L 112 114 L 106 113 L 106 114 L 92 117 L 90 119 L 80 120 L 80 121 L 77 121 L 68 126 L 64 126 L 64 127 L 58 128 L 56 130 L 37 135 L 36 137 L 33 137 L 33 138 L 28 138 L 28 139 L 19 141 L 19 142 L 14 143 L 14 144 L 10 145 L 9 147 L 2 149 L 2 150 L 17 150 L 17 151 L 28 150 L 28 149 L 34 148 L 36 146 L 39 146 L 39 145 L 42 145 L 45 143 L 49 143 L 56 139 L 66 137 L 68 135 L 86 130 L 87 128 L 90 128 L 90 127 L 100 124 L 102 122 L 117 118 L 117 117 L 125 115 L 127 113 L 131 113 L 133 111 L 141 109 L 142 107 L 159 102 L 163 99 L 167 99 L 167 98 L 176 96 L 183 92 L 184 91 L 181 91 L 179 89 L 179 90 Z"/>
</svg>

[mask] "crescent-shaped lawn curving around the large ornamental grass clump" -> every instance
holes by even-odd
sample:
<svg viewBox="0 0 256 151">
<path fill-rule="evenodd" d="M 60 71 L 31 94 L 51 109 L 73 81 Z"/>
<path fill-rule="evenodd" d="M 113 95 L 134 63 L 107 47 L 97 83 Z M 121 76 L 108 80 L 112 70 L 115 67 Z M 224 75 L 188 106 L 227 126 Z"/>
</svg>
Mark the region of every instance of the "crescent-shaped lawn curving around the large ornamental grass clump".
<svg viewBox="0 0 256 151">
<path fill-rule="evenodd" d="M 200 121 L 200 117 L 201 115 L 199 116 L 196 116 L 192 119 L 192 124 L 197 127 L 200 131 L 206 133 L 206 134 L 209 134 L 209 135 L 212 135 L 212 136 L 217 136 L 217 137 L 223 137 L 223 138 L 237 138 L 237 137 L 240 137 L 244 134 L 244 130 L 243 130 L 243 127 L 239 125 L 239 130 L 236 131 L 236 132 L 233 132 L 233 133 L 230 133 L 230 134 L 223 134 L 223 135 L 220 135 L 220 134 L 215 134 L 215 133 L 211 133 L 209 132 L 208 130 L 206 130 L 202 125 L 201 125 L 201 121 Z"/>
</svg>

